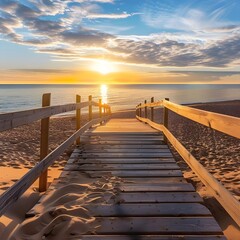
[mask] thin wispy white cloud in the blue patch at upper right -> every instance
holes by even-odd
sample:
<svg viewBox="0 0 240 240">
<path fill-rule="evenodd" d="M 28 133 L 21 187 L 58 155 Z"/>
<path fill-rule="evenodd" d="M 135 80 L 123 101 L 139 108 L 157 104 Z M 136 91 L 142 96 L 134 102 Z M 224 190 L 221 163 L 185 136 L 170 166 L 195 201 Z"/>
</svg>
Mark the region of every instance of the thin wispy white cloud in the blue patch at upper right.
<svg viewBox="0 0 240 240">
<path fill-rule="evenodd" d="M 189 4 L 190 3 L 190 4 Z M 206 1 L 194 4 L 186 1 L 149 0 L 143 7 L 143 22 L 153 28 L 174 29 L 186 32 L 211 31 L 212 28 L 232 25 L 224 16 L 234 7 L 234 1 Z"/>
</svg>

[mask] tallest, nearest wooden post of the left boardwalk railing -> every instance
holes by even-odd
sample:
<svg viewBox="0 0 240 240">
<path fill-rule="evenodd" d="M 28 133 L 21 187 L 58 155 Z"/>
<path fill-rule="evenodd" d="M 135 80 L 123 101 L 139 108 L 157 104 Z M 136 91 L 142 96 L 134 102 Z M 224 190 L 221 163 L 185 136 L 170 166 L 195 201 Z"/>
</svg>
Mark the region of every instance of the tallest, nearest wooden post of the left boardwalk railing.
<svg viewBox="0 0 240 240">
<path fill-rule="evenodd" d="M 42 96 L 42 107 L 50 106 L 51 93 L 45 93 Z M 49 117 L 41 120 L 41 139 L 40 139 L 40 160 L 48 155 L 49 152 Z M 39 192 L 47 190 L 47 176 L 48 170 L 46 169 L 39 177 Z"/>
</svg>

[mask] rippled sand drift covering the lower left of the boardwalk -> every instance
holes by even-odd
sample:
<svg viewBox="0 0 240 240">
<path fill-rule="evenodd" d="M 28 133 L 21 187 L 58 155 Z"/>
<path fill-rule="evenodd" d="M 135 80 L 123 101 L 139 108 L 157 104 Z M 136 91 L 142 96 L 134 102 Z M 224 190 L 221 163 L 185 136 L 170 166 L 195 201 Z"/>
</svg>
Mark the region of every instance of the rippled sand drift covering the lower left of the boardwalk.
<svg viewBox="0 0 240 240">
<path fill-rule="evenodd" d="M 36 205 L 35 216 L 20 224 L 9 239 L 59 240 L 93 234 L 98 228 L 93 212 L 82 206 L 112 203 L 112 196 L 115 195 L 113 189 L 117 183 L 115 177 L 105 176 L 96 183 L 71 183 L 52 191 Z"/>
</svg>

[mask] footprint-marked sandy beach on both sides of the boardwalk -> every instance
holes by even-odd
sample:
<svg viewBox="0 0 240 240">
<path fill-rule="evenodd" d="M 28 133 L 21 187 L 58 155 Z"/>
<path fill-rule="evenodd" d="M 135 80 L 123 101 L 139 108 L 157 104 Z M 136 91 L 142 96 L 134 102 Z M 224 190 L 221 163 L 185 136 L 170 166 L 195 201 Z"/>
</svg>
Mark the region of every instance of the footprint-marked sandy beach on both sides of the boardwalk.
<svg viewBox="0 0 240 240">
<path fill-rule="evenodd" d="M 191 105 L 199 109 L 228 114 L 235 117 L 240 117 L 240 101 L 227 101 L 216 103 L 196 103 Z M 112 117 L 126 117 L 131 118 L 135 116 L 135 111 L 126 110 L 114 113 Z M 155 120 L 161 122 L 162 111 L 155 111 Z M 87 121 L 87 115 L 82 118 L 82 124 Z M 56 148 L 61 142 L 71 136 L 75 131 L 75 117 L 59 117 L 51 119 L 50 123 L 50 149 Z M 194 123 L 174 113 L 169 115 L 169 129 L 173 134 L 186 146 L 186 148 L 236 197 L 240 200 L 240 141 L 236 138 L 226 136 L 220 132 L 208 129 L 200 124 Z M 3 193 L 9 186 L 16 182 L 24 173 L 32 168 L 39 161 L 39 138 L 40 138 L 40 122 L 33 123 L 28 126 L 21 126 L 11 131 L 0 133 L 0 194 Z M 67 159 L 69 158 L 74 146 L 69 148 L 64 155 L 62 155 L 49 170 L 49 182 L 57 178 L 61 173 Z M 236 233 L 237 227 L 231 222 L 231 219 L 224 217 L 223 210 L 217 203 L 214 203 L 211 195 L 206 188 L 199 181 L 197 176 L 189 169 L 187 164 L 181 157 L 172 149 L 179 166 L 184 172 L 185 178 L 192 182 L 196 190 L 204 198 L 214 216 L 221 222 L 220 225 L 223 231 L 228 235 L 229 239 L 234 240 L 231 232 Z M 76 192 L 73 199 L 78 198 L 78 204 L 81 206 L 86 198 L 89 196 L 81 195 L 79 192 L 88 192 L 88 188 L 96 188 L 96 193 L 103 190 L 107 192 L 112 188 L 108 184 L 109 179 L 105 178 L 105 182 L 95 184 L 84 183 L 81 179 L 82 185 L 78 184 L 79 189 L 72 185 L 71 189 Z M 111 183 L 117 183 L 117 179 L 111 179 Z M 84 185 L 85 184 L 85 185 Z M 70 190 L 71 190 L 70 189 Z M 70 191 L 68 189 L 68 191 Z M 62 192 L 59 193 L 61 195 Z M 102 196 L 102 195 L 101 195 Z M 98 197 L 101 197 L 100 195 Z M 25 212 L 27 212 L 40 199 L 41 194 L 37 192 L 37 182 L 27 191 L 27 193 L 20 199 L 18 205 L 11 208 L 4 216 L 0 217 L 0 239 L 8 239 L 11 233 L 17 229 L 18 224 L 24 220 Z M 89 197 L 89 201 L 94 201 L 96 196 Z M 59 198 L 57 194 L 48 196 L 45 201 L 46 208 L 57 207 L 51 205 L 50 202 L 56 201 Z M 28 204 L 22 207 L 22 202 L 28 199 Z M 18 208 L 21 206 L 21 208 Z M 219 211 L 221 209 L 221 211 Z M 64 211 L 64 210 L 63 210 Z M 219 214 L 221 212 L 221 214 Z M 91 216 L 84 212 L 84 209 L 78 209 L 74 214 L 83 216 L 82 222 L 91 224 Z M 74 215 L 73 214 L 73 215 Z M 84 215 L 85 214 L 85 215 Z M 220 215 L 220 216 L 219 216 Z M 226 216 L 226 215 L 224 215 Z M 45 216 L 46 217 L 46 216 Z M 44 216 L 43 216 L 44 218 Z M 47 218 L 47 217 L 46 217 Z M 222 219 L 222 221 L 221 221 Z M 44 219 L 44 221 L 51 221 L 52 219 Z M 223 221 L 224 220 L 224 221 Z M 69 221 L 69 226 L 71 220 Z M 231 223 L 230 223 L 231 222 Z M 79 224 L 84 225 L 79 222 Z M 85 226 L 85 225 L 84 225 Z M 39 228 L 37 231 L 41 232 Z M 88 231 L 85 229 L 84 231 Z M 61 233 L 61 231 L 60 231 Z M 232 237 L 231 237 L 232 236 Z M 26 239 L 24 237 L 17 238 L 12 235 L 11 240 Z M 31 238 L 39 239 L 39 238 Z M 46 238 L 50 239 L 50 238 Z M 51 238 L 58 239 L 58 238 Z M 235 239 L 237 240 L 237 239 Z"/>
</svg>

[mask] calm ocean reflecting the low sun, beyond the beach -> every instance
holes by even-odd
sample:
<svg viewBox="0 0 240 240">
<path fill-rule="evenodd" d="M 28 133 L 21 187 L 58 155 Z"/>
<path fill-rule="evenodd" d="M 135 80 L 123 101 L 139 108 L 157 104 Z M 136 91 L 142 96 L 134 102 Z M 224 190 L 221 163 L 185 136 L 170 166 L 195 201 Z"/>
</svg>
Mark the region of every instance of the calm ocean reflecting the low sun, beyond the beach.
<svg viewBox="0 0 240 240">
<path fill-rule="evenodd" d="M 76 94 L 82 101 L 102 98 L 112 110 L 134 108 L 145 99 L 170 98 L 178 104 L 240 99 L 240 84 L 131 84 L 131 85 L 0 85 L 0 113 L 41 107 L 43 93 L 51 93 L 51 105 L 74 103 Z"/>
</svg>

